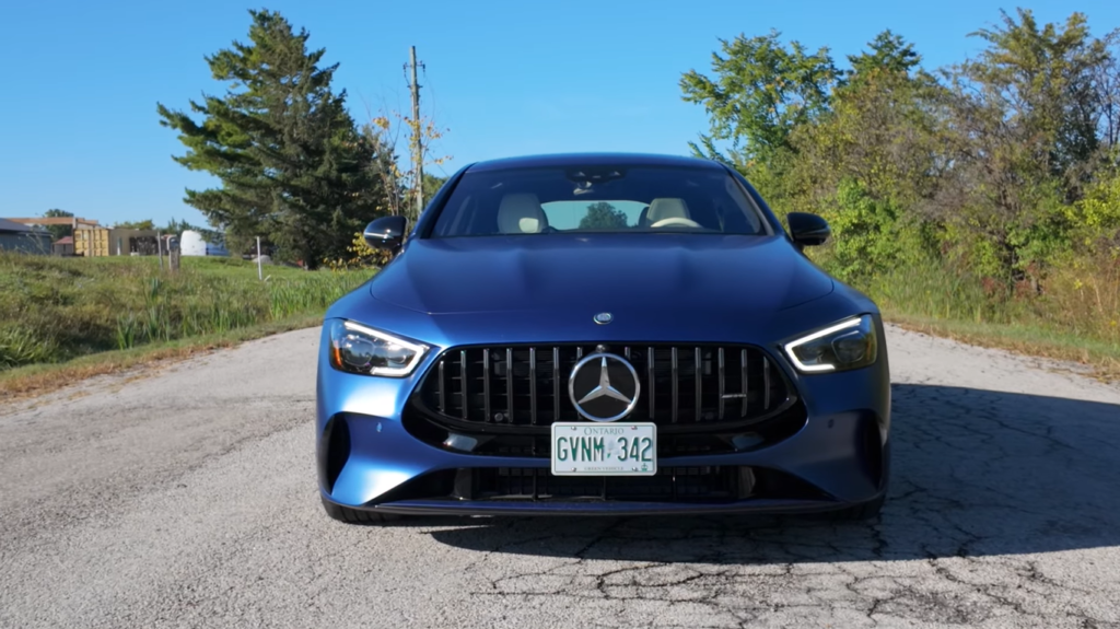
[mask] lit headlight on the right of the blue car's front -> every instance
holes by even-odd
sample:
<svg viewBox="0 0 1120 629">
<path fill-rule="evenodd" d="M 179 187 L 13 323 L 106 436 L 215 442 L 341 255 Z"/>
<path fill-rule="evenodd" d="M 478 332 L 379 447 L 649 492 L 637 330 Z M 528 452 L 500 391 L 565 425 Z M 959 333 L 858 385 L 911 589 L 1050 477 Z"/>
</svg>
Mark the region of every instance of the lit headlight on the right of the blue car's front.
<svg viewBox="0 0 1120 629">
<path fill-rule="evenodd" d="M 875 320 L 870 314 L 847 319 L 785 344 L 785 353 L 808 374 L 866 367 L 879 353 Z"/>
</svg>

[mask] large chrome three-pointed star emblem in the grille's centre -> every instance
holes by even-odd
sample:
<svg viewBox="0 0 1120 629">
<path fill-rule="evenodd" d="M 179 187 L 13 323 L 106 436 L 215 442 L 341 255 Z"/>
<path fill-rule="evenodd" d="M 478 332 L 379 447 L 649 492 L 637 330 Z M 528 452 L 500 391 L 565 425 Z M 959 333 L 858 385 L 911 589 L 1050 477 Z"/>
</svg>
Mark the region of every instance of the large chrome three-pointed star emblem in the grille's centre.
<svg viewBox="0 0 1120 629">
<path fill-rule="evenodd" d="M 598 367 L 598 368 L 596 368 Z M 642 383 L 628 360 L 616 354 L 585 356 L 571 369 L 568 395 L 576 411 L 592 422 L 613 422 L 637 406 Z"/>
</svg>

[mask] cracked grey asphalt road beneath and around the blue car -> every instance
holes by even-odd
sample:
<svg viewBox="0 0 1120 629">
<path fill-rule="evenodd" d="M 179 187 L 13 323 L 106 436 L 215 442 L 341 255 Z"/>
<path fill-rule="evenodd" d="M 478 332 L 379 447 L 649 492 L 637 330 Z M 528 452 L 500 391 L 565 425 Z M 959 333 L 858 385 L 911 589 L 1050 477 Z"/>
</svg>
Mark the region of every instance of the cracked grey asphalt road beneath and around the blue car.
<svg viewBox="0 0 1120 629">
<path fill-rule="evenodd" d="M 0 409 L 0 627 L 1120 627 L 1120 388 L 889 329 L 876 522 L 335 523 L 316 330 Z"/>
</svg>

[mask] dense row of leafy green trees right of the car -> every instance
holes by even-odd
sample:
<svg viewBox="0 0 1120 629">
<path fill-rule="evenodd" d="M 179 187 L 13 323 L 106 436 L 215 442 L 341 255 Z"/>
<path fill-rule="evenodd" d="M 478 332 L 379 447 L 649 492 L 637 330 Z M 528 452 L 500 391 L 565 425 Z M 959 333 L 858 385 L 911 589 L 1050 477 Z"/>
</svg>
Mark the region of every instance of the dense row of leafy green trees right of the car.
<svg viewBox="0 0 1120 629">
<path fill-rule="evenodd" d="M 776 31 L 721 40 L 710 74 L 680 79 L 710 121 L 691 148 L 780 214 L 825 216 L 820 260 L 852 282 L 934 265 L 1043 294 L 1075 260 L 1116 264 L 1120 30 L 1018 9 L 970 36 L 978 55 L 932 71 L 890 30 L 846 68 Z"/>
</svg>

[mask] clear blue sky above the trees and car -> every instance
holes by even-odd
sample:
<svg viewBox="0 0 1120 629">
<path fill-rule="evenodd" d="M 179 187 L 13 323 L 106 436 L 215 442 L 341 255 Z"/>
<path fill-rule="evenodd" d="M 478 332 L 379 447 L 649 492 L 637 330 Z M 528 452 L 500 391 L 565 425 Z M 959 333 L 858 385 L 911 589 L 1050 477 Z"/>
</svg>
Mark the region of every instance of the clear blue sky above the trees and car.
<svg viewBox="0 0 1120 629">
<path fill-rule="evenodd" d="M 1095 35 L 1120 26 L 1116 0 L 1024 4 L 1039 20 L 1089 16 Z M 340 63 L 356 119 L 408 106 L 403 64 L 427 66 L 423 110 L 449 129 L 433 151 L 450 172 L 478 159 L 570 150 L 684 153 L 707 129 L 680 98 L 681 73 L 709 72 L 718 39 L 776 28 L 838 63 L 885 28 L 913 41 L 926 67 L 978 50 L 965 37 L 1016 4 L 940 2 L 564 2 L 461 0 L 0 2 L 0 217 L 58 207 L 102 223 L 170 217 L 204 223 L 184 188 L 209 177 L 171 161 L 183 147 L 156 103 L 186 109 L 220 93 L 204 55 L 245 40 L 249 8 L 283 13 L 311 47 Z M 437 170 L 438 172 L 438 170 Z"/>
</svg>

